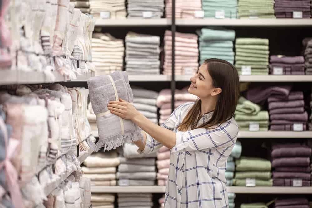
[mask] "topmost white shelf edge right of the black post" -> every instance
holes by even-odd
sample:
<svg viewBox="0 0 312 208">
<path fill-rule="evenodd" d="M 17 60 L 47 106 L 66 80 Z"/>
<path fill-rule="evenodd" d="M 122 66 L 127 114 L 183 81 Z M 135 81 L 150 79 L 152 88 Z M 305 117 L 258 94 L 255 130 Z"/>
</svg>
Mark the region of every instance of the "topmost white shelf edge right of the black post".
<svg viewBox="0 0 312 208">
<path fill-rule="evenodd" d="M 176 19 L 177 26 L 308 27 L 311 19 Z"/>
</svg>

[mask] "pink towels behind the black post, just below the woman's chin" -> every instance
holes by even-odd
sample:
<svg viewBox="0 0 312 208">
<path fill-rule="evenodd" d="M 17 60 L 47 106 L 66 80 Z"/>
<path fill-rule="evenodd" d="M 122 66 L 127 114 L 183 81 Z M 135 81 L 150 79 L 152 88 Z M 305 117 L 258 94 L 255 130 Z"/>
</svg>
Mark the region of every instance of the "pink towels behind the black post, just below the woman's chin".
<svg viewBox="0 0 312 208">
<path fill-rule="evenodd" d="M 177 108 L 187 102 L 194 102 L 197 99 L 196 95 L 188 93 L 188 87 L 182 90 L 175 90 L 174 93 L 174 107 Z M 159 124 L 165 122 L 171 114 L 171 89 L 163 89 L 159 92 L 159 96 L 156 101 L 156 105 L 160 108 Z"/>
</svg>

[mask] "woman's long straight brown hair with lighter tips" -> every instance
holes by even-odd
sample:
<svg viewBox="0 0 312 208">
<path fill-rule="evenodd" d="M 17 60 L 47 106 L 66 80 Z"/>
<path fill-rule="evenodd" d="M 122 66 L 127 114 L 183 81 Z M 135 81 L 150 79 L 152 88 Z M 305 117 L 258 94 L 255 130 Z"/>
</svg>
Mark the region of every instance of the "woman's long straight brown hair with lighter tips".
<svg viewBox="0 0 312 208">
<path fill-rule="evenodd" d="M 202 104 L 202 101 L 197 99 L 179 125 L 179 131 L 210 128 L 224 123 L 234 116 L 239 99 L 239 75 L 236 68 L 225 60 L 215 58 L 205 60 L 204 64 L 207 65 L 208 73 L 212 78 L 212 85 L 222 90 L 218 95 L 216 108 L 213 111 L 212 117 L 206 123 L 196 127 L 200 120 L 199 114 Z"/>
</svg>

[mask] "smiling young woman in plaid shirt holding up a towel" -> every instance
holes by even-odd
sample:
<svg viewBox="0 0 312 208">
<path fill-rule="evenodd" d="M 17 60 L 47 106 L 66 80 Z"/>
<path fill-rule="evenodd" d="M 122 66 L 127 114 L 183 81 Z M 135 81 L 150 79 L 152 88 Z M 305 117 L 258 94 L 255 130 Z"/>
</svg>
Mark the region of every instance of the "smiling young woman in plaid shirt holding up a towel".
<svg viewBox="0 0 312 208">
<path fill-rule="evenodd" d="M 190 80 L 188 92 L 199 99 L 180 105 L 161 127 L 122 99 L 108 109 L 144 130 L 138 152 L 171 149 L 166 208 L 227 208 L 224 172 L 238 134 L 239 76 L 229 62 L 207 59 Z"/>
</svg>

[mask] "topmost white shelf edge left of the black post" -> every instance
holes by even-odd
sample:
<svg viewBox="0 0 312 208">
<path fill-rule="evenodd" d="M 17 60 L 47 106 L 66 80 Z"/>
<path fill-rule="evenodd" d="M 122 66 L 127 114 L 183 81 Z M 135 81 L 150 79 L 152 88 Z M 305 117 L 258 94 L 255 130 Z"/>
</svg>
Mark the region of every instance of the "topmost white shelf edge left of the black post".
<svg viewBox="0 0 312 208">
<path fill-rule="evenodd" d="M 171 25 L 171 19 L 97 19 L 95 26 L 100 27 L 122 27 L 122 26 L 169 26 Z"/>
</svg>

